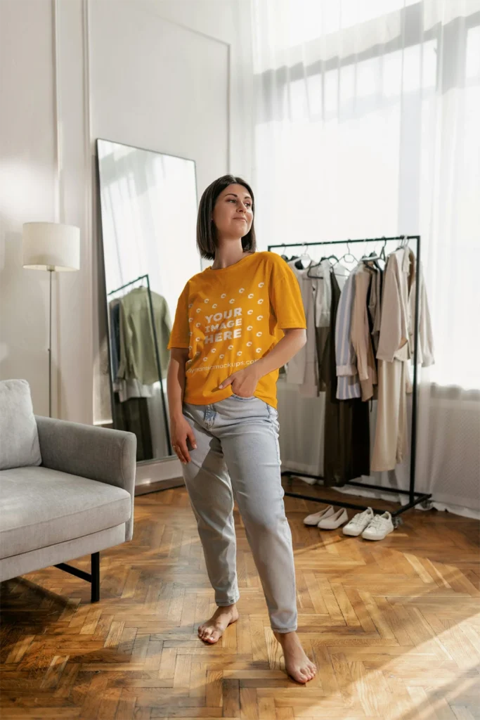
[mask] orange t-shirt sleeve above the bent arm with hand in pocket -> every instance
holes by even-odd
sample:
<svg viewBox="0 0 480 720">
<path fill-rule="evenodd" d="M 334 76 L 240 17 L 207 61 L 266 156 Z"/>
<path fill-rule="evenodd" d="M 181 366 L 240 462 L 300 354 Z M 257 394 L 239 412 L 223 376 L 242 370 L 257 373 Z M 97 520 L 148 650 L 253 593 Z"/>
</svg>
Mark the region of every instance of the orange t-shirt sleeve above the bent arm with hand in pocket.
<svg viewBox="0 0 480 720">
<path fill-rule="evenodd" d="M 270 302 L 281 330 L 307 328 L 299 282 L 283 258 L 273 260 Z"/>
</svg>

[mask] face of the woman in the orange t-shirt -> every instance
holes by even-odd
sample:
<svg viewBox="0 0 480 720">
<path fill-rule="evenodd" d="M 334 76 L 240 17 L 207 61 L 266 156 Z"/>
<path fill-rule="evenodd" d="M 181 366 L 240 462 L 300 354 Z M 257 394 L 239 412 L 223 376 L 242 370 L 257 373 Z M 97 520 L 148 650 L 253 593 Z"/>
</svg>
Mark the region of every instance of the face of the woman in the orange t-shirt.
<svg viewBox="0 0 480 720">
<path fill-rule="evenodd" d="M 253 222 L 252 198 L 243 185 L 232 184 L 217 197 L 213 221 L 219 238 L 244 238 Z"/>
</svg>

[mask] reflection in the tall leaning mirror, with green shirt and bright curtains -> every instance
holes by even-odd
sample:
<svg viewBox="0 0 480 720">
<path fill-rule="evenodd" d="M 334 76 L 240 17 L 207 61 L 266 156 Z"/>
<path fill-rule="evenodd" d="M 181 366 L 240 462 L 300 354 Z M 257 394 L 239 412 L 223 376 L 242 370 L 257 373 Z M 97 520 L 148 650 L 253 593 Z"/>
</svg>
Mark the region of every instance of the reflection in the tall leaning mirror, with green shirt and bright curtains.
<svg viewBox="0 0 480 720">
<path fill-rule="evenodd" d="M 97 140 L 112 426 L 137 462 L 172 454 L 166 373 L 171 318 L 200 271 L 195 163 Z"/>
</svg>

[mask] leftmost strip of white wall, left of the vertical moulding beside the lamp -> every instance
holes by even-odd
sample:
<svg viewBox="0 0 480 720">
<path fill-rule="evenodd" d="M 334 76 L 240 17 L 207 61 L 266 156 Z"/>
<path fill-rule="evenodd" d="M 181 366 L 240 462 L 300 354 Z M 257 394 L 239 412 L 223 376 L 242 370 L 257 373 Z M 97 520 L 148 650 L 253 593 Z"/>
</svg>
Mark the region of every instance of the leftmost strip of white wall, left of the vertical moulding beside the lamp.
<svg viewBox="0 0 480 720">
<path fill-rule="evenodd" d="M 30 380 L 46 414 L 47 273 L 22 269 L 21 230 L 55 212 L 50 4 L 1 0 L 0 13 L 0 378 Z"/>
</svg>

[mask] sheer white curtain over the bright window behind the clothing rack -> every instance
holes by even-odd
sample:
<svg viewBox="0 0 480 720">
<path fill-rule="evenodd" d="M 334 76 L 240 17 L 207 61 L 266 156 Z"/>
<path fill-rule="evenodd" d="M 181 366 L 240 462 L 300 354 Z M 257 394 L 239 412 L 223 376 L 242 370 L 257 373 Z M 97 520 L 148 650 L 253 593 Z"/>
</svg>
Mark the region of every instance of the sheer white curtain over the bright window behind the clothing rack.
<svg viewBox="0 0 480 720">
<path fill-rule="evenodd" d="M 422 235 L 417 485 L 480 510 L 480 0 L 252 2 L 258 235 Z"/>
</svg>

